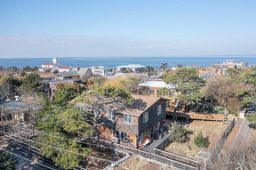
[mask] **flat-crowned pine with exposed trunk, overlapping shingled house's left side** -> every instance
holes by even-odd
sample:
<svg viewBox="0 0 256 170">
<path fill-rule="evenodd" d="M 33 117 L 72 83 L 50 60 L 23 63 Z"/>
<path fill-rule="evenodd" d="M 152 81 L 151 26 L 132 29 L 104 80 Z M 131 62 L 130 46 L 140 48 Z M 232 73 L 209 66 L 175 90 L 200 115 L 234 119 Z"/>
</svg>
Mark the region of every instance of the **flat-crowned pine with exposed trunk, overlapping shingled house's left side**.
<svg viewBox="0 0 256 170">
<path fill-rule="evenodd" d="M 85 115 L 93 113 L 93 119 L 88 120 L 94 125 L 95 137 L 90 138 L 96 141 L 99 145 L 98 136 L 98 115 L 100 111 L 113 111 L 124 107 L 124 104 L 132 104 L 133 97 L 131 93 L 124 90 L 121 87 L 102 86 L 102 85 L 91 85 L 89 91 L 83 91 L 81 95 L 75 100 L 75 102 L 81 102 L 87 107 Z M 86 140 L 83 138 L 80 141 Z M 101 154 L 101 148 L 98 147 L 99 153 Z"/>
</svg>

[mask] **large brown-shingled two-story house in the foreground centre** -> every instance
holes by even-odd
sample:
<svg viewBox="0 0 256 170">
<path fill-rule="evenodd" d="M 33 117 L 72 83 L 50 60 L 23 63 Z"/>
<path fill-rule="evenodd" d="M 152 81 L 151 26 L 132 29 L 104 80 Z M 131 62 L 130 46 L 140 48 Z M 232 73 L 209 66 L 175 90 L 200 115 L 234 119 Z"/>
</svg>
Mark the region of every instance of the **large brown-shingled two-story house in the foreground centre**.
<svg viewBox="0 0 256 170">
<path fill-rule="evenodd" d="M 98 115 L 99 138 L 139 148 L 139 142 L 154 138 L 160 130 L 160 122 L 166 117 L 166 101 L 161 97 L 132 95 L 134 103 L 122 109 L 106 111 L 103 108 Z M 75 103 L 86 110 L 90 106 Z"/>
</svg>

